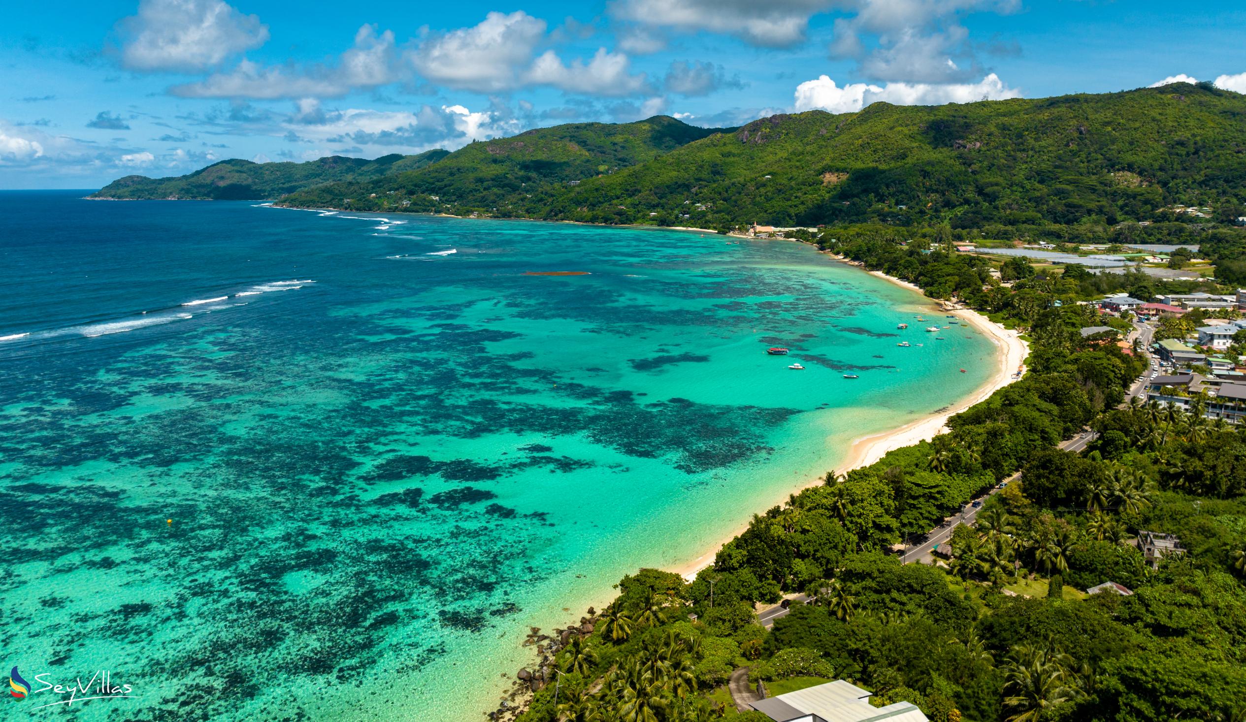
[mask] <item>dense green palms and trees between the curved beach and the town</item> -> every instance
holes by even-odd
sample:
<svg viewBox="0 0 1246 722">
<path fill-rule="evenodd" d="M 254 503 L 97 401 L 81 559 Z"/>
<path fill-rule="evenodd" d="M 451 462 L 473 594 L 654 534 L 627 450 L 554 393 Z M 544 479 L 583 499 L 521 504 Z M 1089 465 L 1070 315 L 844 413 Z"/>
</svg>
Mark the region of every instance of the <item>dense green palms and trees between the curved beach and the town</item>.
<svg viewBox="0 0 1246 722">
<path fill-rule="evenodd" d="M 1029 372 L 951 433 L 829 472 L 754 517 L 693 583 L 623 579 L 591 634 L 547 650 L 551 683 L 520 720 L 765 722 L 736 715 L 723 688 L 745 666 L 773 693 L 847 678 L 934 722 L 1241 720 L 1246 433 L 1197 408 L 1126 403 L 1144 363 L 1079 332 L 1121 322 L 1070 302 L 1096 284 L 1153 281 L 1017 260 L 1006 288 L 986 260 L 939 248 L 946 227 L 849 230 L 810 240 L 1020 329 Z M 1085 452 L 1058 447 L 1085 427 L 1099 432 Z M 976 524 L 956 528 L 946 565 L 890 553 L 1001 482 Z M 1153 569 L 1133 542 L 1143 529 L 1176 534 L 1186 553 Z M 1134 594 L 1084 593 L 1105 581 Z M 794 593 L 809 604 L 758 624 L 755 604 Z"/>
</svg>

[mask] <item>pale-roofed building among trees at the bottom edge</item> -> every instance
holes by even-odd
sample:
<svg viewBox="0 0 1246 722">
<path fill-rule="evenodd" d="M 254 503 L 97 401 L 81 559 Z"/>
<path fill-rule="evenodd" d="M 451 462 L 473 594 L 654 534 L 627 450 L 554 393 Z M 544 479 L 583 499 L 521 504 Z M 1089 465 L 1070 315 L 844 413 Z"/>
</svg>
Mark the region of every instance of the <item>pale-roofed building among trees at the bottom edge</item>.
<svg viewBox="0 0 1246 722">
<path fill-rule="evenodd" d="M 912 702 L 870 703 L 872 692 L 844 680 L 750 702 L 774 722 L 930 722 Z"/>
</svg>

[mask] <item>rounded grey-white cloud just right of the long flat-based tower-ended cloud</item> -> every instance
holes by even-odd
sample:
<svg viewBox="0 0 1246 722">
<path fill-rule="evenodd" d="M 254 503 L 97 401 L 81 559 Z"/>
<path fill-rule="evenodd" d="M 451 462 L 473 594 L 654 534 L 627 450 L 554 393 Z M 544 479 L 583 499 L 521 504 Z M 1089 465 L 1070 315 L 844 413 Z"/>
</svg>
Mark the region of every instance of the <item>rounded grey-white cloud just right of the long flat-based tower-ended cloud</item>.
<svg viewBox="0 0 1246 722">
<path fill-rule="evenodd" d="M 454 88 L 498 92 L 515 87 L 545 39 L 546 22 L 522 10 L 490 12 L 480 25 L 426 39 L 409 54 L 426 80 Z"/>
</svg>

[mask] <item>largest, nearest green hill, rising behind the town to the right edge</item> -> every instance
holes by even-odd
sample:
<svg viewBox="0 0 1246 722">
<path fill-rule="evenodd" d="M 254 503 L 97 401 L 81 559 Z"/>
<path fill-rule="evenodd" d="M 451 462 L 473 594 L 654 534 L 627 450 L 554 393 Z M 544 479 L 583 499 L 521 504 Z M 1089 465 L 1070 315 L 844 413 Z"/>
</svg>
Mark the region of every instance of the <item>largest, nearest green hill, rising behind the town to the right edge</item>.
<svg viewBox="0 0 1246 722">
<path fill-rule="evenodd" d="M 1174 203 L 1219 207 L 1227 220 L 1241 215 L 1244 199 L 1246 96 L 1174 85 L 774 116 L 584 182 L 543 215 L 982 228 L 1115 224 Z"/>
</svg>

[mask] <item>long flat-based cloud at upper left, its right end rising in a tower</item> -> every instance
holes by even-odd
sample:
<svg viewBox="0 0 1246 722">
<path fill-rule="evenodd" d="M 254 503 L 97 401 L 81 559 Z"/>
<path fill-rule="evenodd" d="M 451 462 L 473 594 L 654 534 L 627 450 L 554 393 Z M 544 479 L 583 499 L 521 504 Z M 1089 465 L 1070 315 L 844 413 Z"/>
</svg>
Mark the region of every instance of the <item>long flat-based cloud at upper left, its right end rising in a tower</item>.
<svg viewBox="0 0 1246 722">
<path fill-rule="evenodd" d="M 373 25 L 355 32 L 354 47 L 333 66 L 263 66 L 243 59 L 229 72 L 217 72 L 194 83 L 169 88 L 189 98 L 298 98 L 340 97 L 358 88 L 370 88 L 396 80 L 394 34 L 378 34 Z"/>
</svg>

